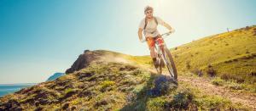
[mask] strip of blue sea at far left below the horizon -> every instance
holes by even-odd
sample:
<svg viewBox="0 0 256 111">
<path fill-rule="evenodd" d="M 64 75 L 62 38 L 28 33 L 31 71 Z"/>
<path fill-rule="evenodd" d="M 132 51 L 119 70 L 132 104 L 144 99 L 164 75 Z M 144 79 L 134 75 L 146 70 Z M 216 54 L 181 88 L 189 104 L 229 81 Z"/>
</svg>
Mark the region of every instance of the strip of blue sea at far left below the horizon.
<svg viewBox="0 0 256 111">
<path fill-rule="evenodd" d="M 0 84 L 0 97 L 7 95 L 9 93 L 14 93 L 20 91 L 22 88 L 34 86 L 34 83 L 28 84 Z"/>
</svg>

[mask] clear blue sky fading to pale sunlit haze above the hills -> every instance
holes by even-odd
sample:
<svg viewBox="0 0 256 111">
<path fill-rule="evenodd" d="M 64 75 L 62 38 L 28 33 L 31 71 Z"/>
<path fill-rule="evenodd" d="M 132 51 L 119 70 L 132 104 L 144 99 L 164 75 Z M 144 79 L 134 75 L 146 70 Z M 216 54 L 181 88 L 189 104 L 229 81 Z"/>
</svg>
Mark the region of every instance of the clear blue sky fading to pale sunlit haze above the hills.
<svg viewBox="0 0 256 111">
<path fill-rule="evenodd" d="M 154 7 L 176 30 L 177 47 L 247 25 L 256 25 L 254 0 L 1 0 L 0 84 L 43 82 L 65 72 L 84 50 L 148 55 L 138 40 L 143 9 Z M 160 33 L 166 28 L 159 26 Z"/>
</svg>

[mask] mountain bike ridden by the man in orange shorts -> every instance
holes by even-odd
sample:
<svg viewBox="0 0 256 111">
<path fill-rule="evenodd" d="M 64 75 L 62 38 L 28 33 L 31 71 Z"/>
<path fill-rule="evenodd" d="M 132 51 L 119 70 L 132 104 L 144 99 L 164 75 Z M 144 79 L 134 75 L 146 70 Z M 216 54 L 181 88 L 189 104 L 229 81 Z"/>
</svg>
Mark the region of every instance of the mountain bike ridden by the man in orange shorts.
<svg viewBox="0 0 256 111">
<path fill-rule="evenodd" d="M 171 33 L 172 32 L 167 32 L 167 33 L 164 33 L 160 36 L 162 36 L 162 38 L 164 39 L 164 38 L 166 38 L 166 36 L 170 36 Z M 161 49 L 160 44 L 159 44 L 158 41 L 155 41 L 154 45 L 155 45 L 154 50 L 155 50 L 155 53 L 157 55 L 156 63 L 158 65 L 158 67 L 155 67 L 155 69 L 157 70 L 157 72 L 159 74 L 162 74 L 162 69 L 165 68 L 165 66 L 166 66 L 166 69 L 168 70 L 171 77 L 174 80 L 177 80 L 177 69 L 176 69 L 176 66 L 174 64 L 172 54 L 170 53 L 169 49 L 166 47 L 166 42 L 164 42 L 164 45 L 162 46 L 162 49 Z"/>
</svg>

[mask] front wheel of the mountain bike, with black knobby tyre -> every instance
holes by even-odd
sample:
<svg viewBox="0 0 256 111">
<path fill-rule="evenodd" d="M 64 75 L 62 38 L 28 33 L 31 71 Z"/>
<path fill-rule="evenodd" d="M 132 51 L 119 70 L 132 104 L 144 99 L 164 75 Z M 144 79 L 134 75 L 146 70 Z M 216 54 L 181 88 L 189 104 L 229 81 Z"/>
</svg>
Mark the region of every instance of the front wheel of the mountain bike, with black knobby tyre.
<svg viewBox="0 0 256 111">
<path fill-rule="evenodd" d="M 165 59 L 166 59 L 166 67 L 168 69 L 168 72 L 170 73 L 170 75 L 177 80 L 177 69 L 176 66 L 174 64 L 173 58 L 172 58 L 172 54 L 170 53 L 170 51 L 168 50 L 168 48 L 165 47 Z"/>
</svg>

